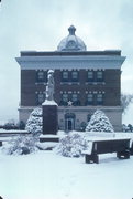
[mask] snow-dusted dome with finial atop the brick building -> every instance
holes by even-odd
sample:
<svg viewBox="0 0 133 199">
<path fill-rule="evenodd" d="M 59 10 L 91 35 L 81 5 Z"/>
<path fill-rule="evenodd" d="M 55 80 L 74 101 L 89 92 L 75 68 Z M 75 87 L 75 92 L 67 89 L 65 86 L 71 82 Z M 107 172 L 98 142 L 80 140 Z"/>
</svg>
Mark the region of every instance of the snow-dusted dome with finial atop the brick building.
<svg viewBox="0 0 133 199">
<path fill-rule="evenodd" d="M 57 51 L 86 51 L 87 48 L 84 41 L 77 35 L 75 35 L 76 28 L 74 25 L 70 25 L 68 28 L 68 36 L 64 38 L 59 42 Z"/>
</svg>

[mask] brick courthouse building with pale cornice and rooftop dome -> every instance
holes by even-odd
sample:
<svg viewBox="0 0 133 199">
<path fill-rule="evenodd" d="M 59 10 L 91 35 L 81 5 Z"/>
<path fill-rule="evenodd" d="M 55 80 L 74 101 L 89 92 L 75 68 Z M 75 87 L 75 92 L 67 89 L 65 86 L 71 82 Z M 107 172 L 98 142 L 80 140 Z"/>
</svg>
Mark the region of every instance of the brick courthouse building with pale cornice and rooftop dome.
<svg viewBox="0 0 133 199">
<path fill-rule="evenodd" d="M 96 109 L 102 109 L 115 130 L 121 130 L 121 65 L 125 56 L 120 50 L 87 51 L 75 34 L 75 27 L 55 51 L 21 51 L 20 121 L 45 100 L 47 71 L 54 70 L 59 129 L 81 129 Z"/>
</svg>

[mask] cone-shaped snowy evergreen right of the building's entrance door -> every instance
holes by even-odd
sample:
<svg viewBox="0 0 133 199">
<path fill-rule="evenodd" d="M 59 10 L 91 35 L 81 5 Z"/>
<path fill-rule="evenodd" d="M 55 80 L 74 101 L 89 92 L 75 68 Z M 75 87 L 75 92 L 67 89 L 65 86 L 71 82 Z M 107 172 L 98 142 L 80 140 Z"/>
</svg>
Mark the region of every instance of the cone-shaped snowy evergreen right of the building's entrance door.
<svg viewBox="0 0 133 199">
<path fill-rule="evenodd" d="M 96 111 L 87 124 L 86 132 L 110 132 L 113 133 L 113 126 L 102 111 Z"/>
</svg>

